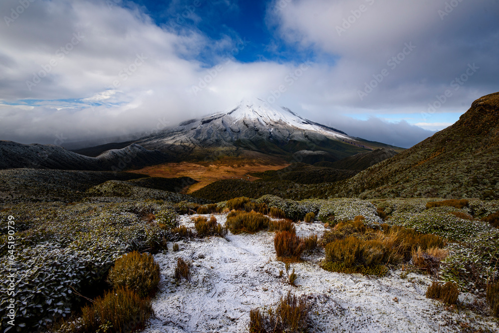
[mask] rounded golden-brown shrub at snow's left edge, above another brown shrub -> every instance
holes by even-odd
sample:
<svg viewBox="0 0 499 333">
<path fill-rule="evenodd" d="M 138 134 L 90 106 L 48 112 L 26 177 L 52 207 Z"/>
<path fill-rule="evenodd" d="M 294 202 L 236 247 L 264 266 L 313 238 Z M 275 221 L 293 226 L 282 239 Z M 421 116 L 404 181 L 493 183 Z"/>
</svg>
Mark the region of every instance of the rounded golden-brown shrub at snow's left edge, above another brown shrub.
<svg viewBox="0 0 499 333">
<path fill-rule="evenodd" d="M 116 259 L 114 267 L 109 271 L 108 279 L 116 289 L 128 288 L 140 297 L 146 297 L 158 286 L 159 265 L 148 253 L 130 252 Z"/>
</svg>

